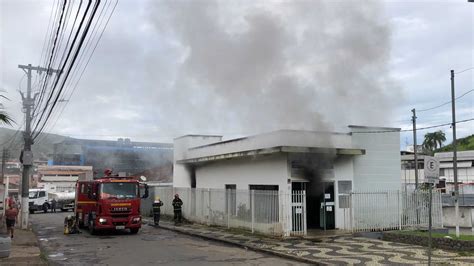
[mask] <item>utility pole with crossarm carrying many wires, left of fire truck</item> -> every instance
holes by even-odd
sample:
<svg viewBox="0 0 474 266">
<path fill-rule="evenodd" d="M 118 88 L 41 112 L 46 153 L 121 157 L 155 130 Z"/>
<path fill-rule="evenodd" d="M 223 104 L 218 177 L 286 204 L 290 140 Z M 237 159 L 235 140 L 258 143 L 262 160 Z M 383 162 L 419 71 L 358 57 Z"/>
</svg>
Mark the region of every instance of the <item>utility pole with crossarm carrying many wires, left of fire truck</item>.
<svg viewBox="0 0 474 266">
<path fill-rule="evenodd" d="M 31 97 L 31 74 L 35 70 L 41 74 L 42 71 L 46 71 L 46 75 L 51 75 L 53 72 L 58 73 L 59 70 L 47 69 L 43 67 L 34 67 L 31 64 L 18 65 L 18 68 L 21 68 L 27 78 L 27 88 L 26 88 L 26 97 L 21 93 L 21 98 L 23 99 L 23 108 L 25 109 L 25 132 L 23 138 L 25 140 L 25 146 L 21 152 L 21 163 L 23 164 L 23 172 L 21 177 L 21 228 L 28 228 L 28 190 L 30 188 L 30 171 L 33 165 L 33 153 L 31 152 L 31 146 L 33 145 L 33 139 L 31 134 L 31 110 L 33 109 L 36 95 Z"/>
</svg>

